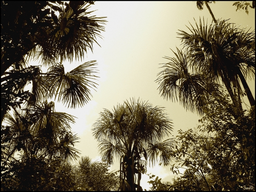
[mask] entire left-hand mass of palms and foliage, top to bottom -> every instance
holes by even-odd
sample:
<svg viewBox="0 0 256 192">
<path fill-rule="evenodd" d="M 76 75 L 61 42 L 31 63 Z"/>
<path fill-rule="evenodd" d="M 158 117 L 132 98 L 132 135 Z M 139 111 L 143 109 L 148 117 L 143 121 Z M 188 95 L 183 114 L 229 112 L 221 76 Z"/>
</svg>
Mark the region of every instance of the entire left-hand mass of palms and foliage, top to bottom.
<svg viewBox="0 0 256 192">
<path fill-rule="evenodd" d="M 91 16 L 92 4 L 1 1 L 2 190 L 73 190 L 75 119 L 48 100 L 81 107 L 97 85 L 95 60 L 70 72 L 62 64 L 83 60 L 101 37 L 106 20 Z"/>
</svg>

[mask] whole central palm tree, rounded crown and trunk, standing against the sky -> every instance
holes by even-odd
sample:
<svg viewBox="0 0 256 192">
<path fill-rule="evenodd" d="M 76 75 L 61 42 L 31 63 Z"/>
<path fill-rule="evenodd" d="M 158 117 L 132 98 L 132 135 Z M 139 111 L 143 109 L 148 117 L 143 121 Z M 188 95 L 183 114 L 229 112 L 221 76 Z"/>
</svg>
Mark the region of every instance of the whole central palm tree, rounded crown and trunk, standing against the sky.
<svg viewBox="0 0 256 192">
<path fill-rule="evenodd" d="M 164 165 L 171 162 L 172 139 L 162 139 L 169 136 L 172 125 L 161 107 L 139 99 L 126 100 L 113 112 L 104 109 L 92 131 L 99 141 L 102 161 L 113 164 L 114 157 L 120 158 L 121 190 L 142 190 L 140 175 L 147 160 L 154 165 L 160 155 Z"/>
</svg>

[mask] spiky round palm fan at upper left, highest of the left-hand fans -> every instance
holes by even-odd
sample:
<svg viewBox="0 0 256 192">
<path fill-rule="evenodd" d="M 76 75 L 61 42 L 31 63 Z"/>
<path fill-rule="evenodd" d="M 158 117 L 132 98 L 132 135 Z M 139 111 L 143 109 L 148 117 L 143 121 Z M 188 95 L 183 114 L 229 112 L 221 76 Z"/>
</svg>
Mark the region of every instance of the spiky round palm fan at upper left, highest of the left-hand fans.
<svg viewBox="0 0 256 192">
<path fill-rule="evenodd" d="M 105 17 L 88 17 L 94 12 L 88 11 L 90 5 L 85 2 L 71 8 L 66 4 L 66 8 L 61 8 L 63 11 L 58 18 L 52 11 L 51 27 L 44 28 L 41 32 L 47 40 L 39 41 L 40 46 L 35 47 L 33 56 L 41 57 L 45 65 L 52 64 L 59 58 L 61 62 L 66 59 L 71 62 L 73 59 L 82 60 L 88 49 L 92 51 L 92 44 L 97 43 L 96 38 L 101 38 L 100 33 L 104 31 L 103 25 L 107 22 Z"/>
</svg>

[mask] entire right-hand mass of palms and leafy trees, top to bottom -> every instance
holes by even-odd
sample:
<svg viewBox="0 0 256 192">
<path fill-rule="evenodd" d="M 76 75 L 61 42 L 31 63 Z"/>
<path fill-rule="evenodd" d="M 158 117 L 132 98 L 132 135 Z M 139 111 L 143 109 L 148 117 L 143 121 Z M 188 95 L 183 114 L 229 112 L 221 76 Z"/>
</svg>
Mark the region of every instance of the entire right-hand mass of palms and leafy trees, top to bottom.
<svg viewBox="0 0 256 192">
<path fill-rule="evenodd" d="M 255 99 L 247 84 L 255 77 L 255 32 L 216 20 L 208 3 L 196 6 L 206 5 L 214 23 L 200 19 L 190 32 L 180 30 L 184 47 L 166 57 L 170 61 L 157 79 L 164 98 L 204 116 L 201 125 L 176 136 L 171 171 L 178 177 L 172 184 L 156 177 L 148 181 L 151 190 L 255 189 Z M 233 5 L 248 14 L 249 3 Z M 249 110 L 242 108 L 244 96 Z"/>
</svg>

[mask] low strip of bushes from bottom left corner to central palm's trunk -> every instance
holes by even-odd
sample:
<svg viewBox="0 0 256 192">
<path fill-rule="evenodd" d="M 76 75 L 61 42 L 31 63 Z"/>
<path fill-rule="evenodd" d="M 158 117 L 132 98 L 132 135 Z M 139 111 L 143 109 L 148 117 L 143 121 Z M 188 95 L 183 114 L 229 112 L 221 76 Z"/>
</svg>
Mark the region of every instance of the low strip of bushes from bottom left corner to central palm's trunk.
<svg viewBox="0 0 256 192">
<path fill-rule="evenodd" d="M 117 172 L 109 166 L 81 157 L 77 165 L 62 158 L 33 156 L 10 163 L 12 170 L 2 174 L 1 190 L 21 191 L 111 191 L 119 188 Z M 12 172 L 12 174 L 9 174 Z"/>
</svg>

